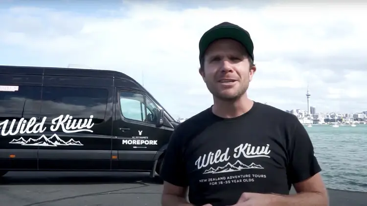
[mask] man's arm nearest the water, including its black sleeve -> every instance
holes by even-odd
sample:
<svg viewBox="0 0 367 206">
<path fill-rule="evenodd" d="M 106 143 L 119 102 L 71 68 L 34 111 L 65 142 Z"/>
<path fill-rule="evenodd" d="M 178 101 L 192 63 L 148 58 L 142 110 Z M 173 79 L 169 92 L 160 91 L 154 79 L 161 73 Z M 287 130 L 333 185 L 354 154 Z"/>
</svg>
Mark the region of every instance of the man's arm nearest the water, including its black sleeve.
<svg viewBox="0 0 367 206">
<path fill-rule="evenodd" d="M 322 181 L 321 167 L 314 155 L 311 139 L 302 124 L 296 126 L 290 139 L 288 179 L 297 194 L 276 196 L 279 206 L 328 206 L 328 194 Z"/>
</svg>

